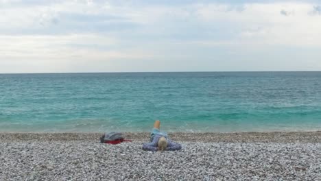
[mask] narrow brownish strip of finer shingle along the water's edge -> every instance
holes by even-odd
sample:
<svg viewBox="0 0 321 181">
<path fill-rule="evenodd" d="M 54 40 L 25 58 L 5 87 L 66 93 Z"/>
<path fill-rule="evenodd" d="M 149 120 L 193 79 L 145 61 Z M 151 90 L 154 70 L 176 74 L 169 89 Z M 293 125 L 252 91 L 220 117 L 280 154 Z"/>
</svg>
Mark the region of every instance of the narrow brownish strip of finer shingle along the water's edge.
<svg viewBox="0 0 321 181">
<path fill-rule="evenodd" d="M 10 141 L 99 141 L 97 132 L 0 132 L 0 142 Z M 169 132 L 174 141 L 201 143 L 321 143 L 321 131 L 316 132 Z M 126 139 L 148 141 L 149 132 L 123 132 Z"/>
</svg>

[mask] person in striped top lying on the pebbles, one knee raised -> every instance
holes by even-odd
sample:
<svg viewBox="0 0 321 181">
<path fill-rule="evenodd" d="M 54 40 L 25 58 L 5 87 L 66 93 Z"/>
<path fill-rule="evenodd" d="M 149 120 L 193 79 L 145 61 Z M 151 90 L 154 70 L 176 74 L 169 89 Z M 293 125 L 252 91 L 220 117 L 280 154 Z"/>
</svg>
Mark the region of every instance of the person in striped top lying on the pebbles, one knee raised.
<svg viewBox="0 0 321 181">
<path fill-rule="evenodd" d="M 160 121 L 155 121 L 150 135 L 151 143 L 144 143 L 143 149 L 149 151 L 179 150 L 182 146 L 169 140 L 166 132 L 160 132 Z"/>
</svg>

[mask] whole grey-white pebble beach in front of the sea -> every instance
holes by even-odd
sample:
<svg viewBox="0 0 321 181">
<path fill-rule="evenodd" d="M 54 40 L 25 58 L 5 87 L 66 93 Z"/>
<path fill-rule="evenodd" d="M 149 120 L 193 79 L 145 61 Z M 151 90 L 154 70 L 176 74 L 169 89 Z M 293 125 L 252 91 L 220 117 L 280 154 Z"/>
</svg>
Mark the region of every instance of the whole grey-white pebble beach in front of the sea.
<svg viewBox="0 0 321 181">
<path fill-rule="evenodd" d="M 176 152 L 99 136 L 0 133 L 0 180 L 321 180 L 321 132 L 172 133 Z"/>
</svg>

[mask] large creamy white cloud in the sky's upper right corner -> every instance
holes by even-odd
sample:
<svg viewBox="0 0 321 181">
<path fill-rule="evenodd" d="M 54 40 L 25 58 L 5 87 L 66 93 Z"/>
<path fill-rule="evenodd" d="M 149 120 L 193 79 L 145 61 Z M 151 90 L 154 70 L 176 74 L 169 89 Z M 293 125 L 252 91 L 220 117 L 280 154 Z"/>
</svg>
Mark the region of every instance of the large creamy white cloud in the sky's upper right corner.
<svg viewBox="0 0 321 181">
<path fill-rule="evenodd" d="M 252 45 L 321 45 L 321 37 L 318 35 L 321 31 L 321 24 L 318 23 L 320 19 L 309 16 L 309 3 L 250 3 L 244 5 L 245 10 L 242 12 L 225 12 L 217 9 L 222 6 L 213 6 L 198 9 L 200 20 L 220 27 L 228 25 L 219 33 L 230 34 L 229 40 Z M 283 12 L 287 19 L 282 18 L 277 11 L 284 8 L 292 9 Z M 294 15 L 294 12 L 296 16 L 289 16 Z"/>
</svg>

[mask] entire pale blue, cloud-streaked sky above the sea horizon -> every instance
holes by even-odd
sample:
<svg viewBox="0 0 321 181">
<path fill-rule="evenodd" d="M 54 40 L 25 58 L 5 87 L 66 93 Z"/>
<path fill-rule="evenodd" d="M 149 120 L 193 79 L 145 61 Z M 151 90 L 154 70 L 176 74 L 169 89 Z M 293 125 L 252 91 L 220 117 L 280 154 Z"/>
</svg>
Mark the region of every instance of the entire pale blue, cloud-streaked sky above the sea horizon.
<svg viewBox="0 0 321 181">
<path fill-rule="evenodd" d="M 321 1 L 0 0 L 0 73 L 321 71 Z"/>
</svg>

